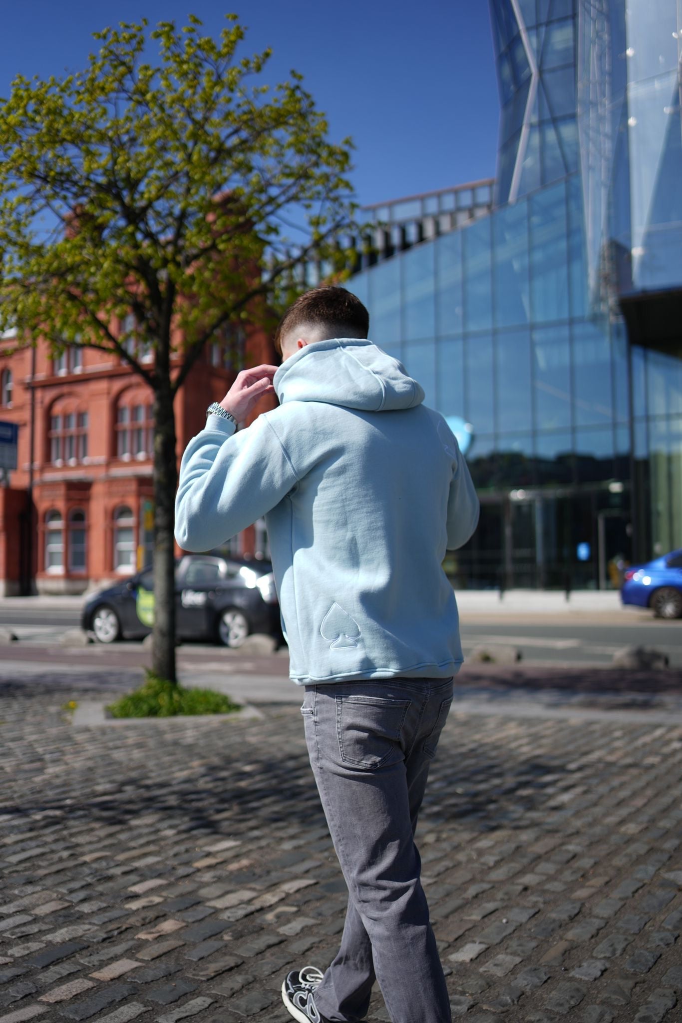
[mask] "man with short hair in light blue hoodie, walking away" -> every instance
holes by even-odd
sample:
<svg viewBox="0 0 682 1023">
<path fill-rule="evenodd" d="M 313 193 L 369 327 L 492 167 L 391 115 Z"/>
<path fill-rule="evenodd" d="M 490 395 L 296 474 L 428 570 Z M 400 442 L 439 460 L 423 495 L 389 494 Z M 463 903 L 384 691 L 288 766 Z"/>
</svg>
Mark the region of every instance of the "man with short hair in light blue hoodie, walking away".
<svg viewBox="0 0 682 1023">
<path fill-rule="evenodd" d="M 446 420 L 367 340 L 343 287 L 303 295 L 282 365 L 240 372 L 180 469 L 176 538 L 202 551 L 265 516 L 290 675 L 349 889 L 340 949 L 282 985 L 302 1021 L 357 1023 L 378 980 L 393 1023 L 450 1023 L 414 844 L 462 662 L 442 569 L 479 501 Z M 263 394 L 280 405 L 235 433 Z"/>
</svg>

